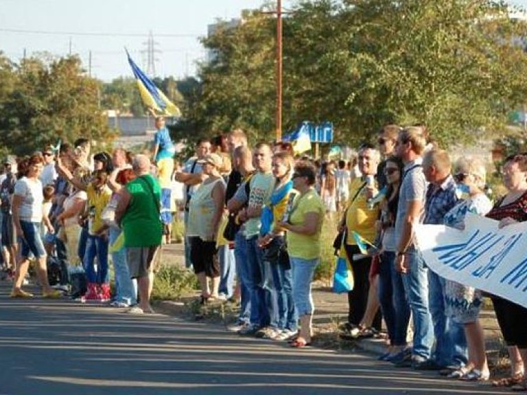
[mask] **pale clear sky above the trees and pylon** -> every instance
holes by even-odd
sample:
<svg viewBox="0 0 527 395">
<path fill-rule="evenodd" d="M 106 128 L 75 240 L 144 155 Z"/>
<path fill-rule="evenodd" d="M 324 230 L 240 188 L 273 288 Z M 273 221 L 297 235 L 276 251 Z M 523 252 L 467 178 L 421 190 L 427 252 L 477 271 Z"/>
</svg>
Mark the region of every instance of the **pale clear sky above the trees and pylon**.
<svg viewBox="0 0 527 395">
<path fill-rule="evenodd" d="M 149 32 L 156 75 L 195 75 L 205 51 L 199 38 L 218 19 L 238 18 L 264 0 L 0 0 L 0 51 L 18 62 L 24 53 L 76 53 L 100 80 L 131 76 L 124 48 L 145 71 Z M 283 0 L 287 9 L 294 0 Z M 527 8 L 527 0 L 511 3 Z M 90 59 L 91 53 L 91 62 Z M 91 67 L 90 67 L 91 64 Z"/>
</svg>

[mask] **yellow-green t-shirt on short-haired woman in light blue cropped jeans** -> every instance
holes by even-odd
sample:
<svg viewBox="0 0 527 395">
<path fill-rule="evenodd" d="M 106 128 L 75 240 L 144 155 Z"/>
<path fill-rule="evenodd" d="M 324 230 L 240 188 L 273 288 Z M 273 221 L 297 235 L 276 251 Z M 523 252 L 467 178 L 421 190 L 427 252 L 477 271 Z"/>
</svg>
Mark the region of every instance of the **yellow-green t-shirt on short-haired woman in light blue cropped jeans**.
<svg viewBox="0 0 527 395">
<path fill-rule="evenodd" d="M 305 222 L 307 213 L 318 214 L 318 228 L 314 235 L 301 235 L 288 232 L 288 252 L 290 256 L 302 259 L 316 259 L 320 257 L 320 234 L 324 222 L 324 204 L 316 191 L 309 191 L 305 195 L 297 195 L 293 210 L 289 217 L 292 225 L 301 225 Z"/>
</svg>

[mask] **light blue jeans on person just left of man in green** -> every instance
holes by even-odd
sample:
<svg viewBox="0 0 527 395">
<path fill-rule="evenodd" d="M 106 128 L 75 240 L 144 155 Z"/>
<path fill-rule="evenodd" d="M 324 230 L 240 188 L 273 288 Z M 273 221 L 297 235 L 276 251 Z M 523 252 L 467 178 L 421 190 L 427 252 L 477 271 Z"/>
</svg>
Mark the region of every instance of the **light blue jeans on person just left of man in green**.
<svg viewBox="0 0 527 395">
<path fill-rule="evenodd" d="M 108 241 L 113 244 L 121 234 L 118 228 L 110 227 L 108 229 Z M 136 304 L 137 297 L 134 291 L 134 284 L 130 277 L 130 270 L 126 263 L 126 248 L 121 248 L 117 252 L 112 252 L 113 270 L 115 272 L 115 300 L 126 304 Z"/>
</svg>

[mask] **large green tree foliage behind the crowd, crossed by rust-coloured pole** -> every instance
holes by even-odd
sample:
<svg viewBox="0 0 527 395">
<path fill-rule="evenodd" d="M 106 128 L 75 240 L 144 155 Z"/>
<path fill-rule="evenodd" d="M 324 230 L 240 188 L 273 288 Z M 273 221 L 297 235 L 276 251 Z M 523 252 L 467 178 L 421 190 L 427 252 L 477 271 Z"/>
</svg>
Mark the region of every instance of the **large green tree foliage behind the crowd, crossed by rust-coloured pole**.
<svg viewBox="0 0 527 395">
<path fill-rule="evenodd" d="M 300 1 L 283 19 L 283 127 L 333 121 L 337 141 L 386 123 L 425 123 L 442 145 L 492 133 L 527 94 L 526 24 L 501 1 Z M 276 19 L 246 12 L 203 40 L 184 123 L 274 132 Z M 212 133 L 211 133 L 212 134 Z"/>
</svg>

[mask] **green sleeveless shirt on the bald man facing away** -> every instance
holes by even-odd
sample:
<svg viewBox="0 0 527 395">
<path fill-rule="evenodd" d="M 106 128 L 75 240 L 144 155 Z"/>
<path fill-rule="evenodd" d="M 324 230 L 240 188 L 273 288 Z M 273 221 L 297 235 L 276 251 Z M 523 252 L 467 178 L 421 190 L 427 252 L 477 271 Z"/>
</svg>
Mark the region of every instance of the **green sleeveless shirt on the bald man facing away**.
<svg viewBox="0 0 527 395">
<path fill-rule="evenodd" d="M 160 246 L 163 224 L 156 204 L 156 201 L 161 202 L 159 182 L 148 174 L 128 182 L 126 190 L 131 197 L 122 221 L 124 246 Z"/>
</svg>

